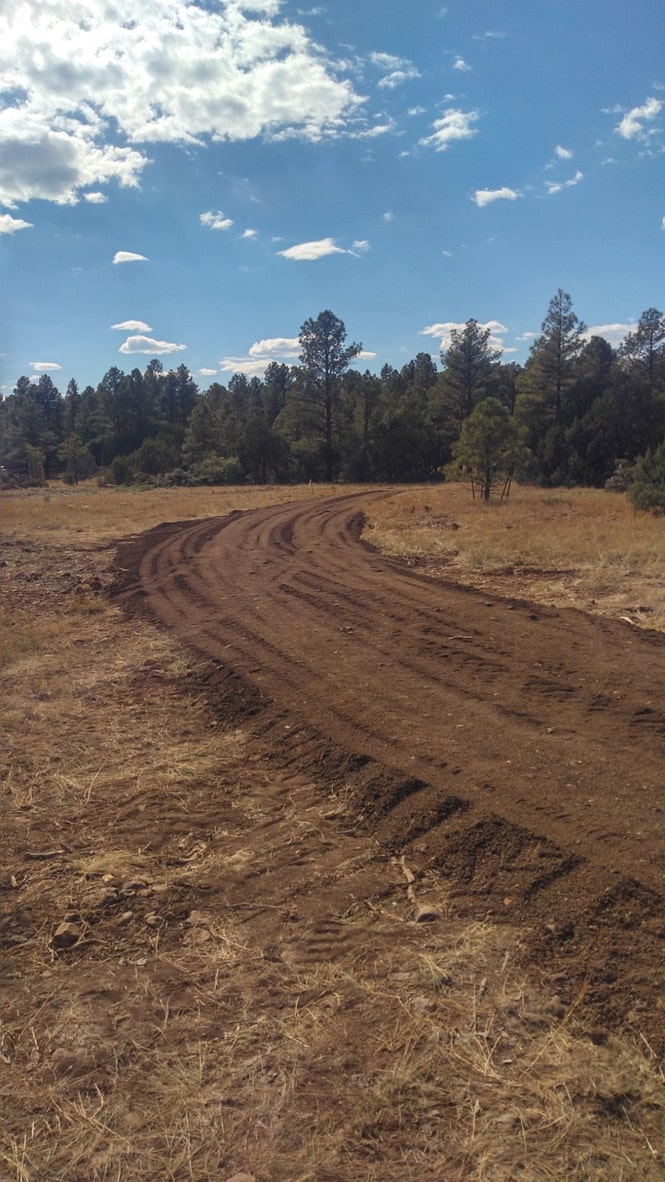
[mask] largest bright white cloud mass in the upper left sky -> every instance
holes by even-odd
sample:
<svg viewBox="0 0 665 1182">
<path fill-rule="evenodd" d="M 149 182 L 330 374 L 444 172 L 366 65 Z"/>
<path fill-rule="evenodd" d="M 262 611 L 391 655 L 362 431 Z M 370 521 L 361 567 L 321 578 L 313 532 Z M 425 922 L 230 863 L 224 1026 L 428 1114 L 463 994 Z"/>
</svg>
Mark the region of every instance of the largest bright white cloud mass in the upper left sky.
<svg viewBox="0 0 665 1182">
<path fill-rule="evenodd" d="M 341 134 L 363 96 L 279 0 L 4 0 L 0 201 L 138 186 L 156 143 Z"/>
</svg>

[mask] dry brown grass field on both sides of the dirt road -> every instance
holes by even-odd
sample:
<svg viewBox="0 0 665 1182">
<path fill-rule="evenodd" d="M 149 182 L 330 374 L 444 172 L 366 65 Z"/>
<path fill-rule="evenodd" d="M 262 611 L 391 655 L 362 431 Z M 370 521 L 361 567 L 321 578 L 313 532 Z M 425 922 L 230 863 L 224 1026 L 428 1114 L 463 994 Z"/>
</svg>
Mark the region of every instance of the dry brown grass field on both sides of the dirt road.
<svg viewBox="0 0 665 1182">
<path fill-rule="evenodd" d="M 520 929 L 356 832 L 106 593 L 129 534 L 347 491 L 1 495 L 1 1182 L 665 1176 L 647 1039 L 563 1007 Z M 665 520 L 615 494 L 386 489 L 366 538 L 665 630 Z"/>
</svg>

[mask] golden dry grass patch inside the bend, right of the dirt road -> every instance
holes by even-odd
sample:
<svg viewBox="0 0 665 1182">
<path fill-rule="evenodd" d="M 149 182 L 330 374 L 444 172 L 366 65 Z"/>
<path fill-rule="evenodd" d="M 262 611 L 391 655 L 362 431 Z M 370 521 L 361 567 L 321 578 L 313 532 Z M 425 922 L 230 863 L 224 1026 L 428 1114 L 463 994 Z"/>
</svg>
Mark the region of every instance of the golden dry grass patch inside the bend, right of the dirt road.
<svg viewBox="0 0 665 1182">
<path fill-rule="evenodd" d="M 665 520 L 621 494 L 517 487 L 484 505 L 441 485 L 372 505 L 370 525 L 380 550 L 431 573 L 665 629 Z"/>
</svg>

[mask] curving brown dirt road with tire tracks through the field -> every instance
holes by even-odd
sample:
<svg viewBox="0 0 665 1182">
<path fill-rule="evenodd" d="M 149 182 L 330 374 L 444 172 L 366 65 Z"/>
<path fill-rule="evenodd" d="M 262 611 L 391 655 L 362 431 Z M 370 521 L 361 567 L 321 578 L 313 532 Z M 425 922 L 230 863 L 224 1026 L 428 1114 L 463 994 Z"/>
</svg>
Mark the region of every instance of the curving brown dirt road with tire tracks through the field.
<svg viewBox="0 0 665 1182">
<path fill-rule="evenodd" d="M 458 913 L 524 924 L 569 1005 L 664 1047 L 665 636 L 424 578 L 361 541 L 377 495 L 161 526 L 116 596 Z"/>
</svg>

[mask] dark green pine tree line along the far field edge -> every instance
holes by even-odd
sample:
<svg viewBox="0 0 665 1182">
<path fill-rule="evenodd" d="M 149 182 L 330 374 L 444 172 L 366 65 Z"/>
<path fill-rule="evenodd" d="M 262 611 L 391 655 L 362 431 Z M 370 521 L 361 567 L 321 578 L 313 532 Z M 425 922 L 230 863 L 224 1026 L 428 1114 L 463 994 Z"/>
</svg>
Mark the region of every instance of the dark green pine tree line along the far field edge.
<svg viewBox="0 0 665 1182">
<path fill-rule="evenodd" d="M 542 486 L 665 486 L 665 316 L 648 309 L 619 348 L 586 335 L 556 292 L 524 365 L 502 361 L 476 320 L 379 375 L 352 368 L 331 311 L 305 322 L 298 365 L 234 375 L 201 391 L 185 365 L 111 368 L 65 394 L 19 378 L 0 403 L 6 478 L 115 483 L 428 481 L 469 479 L 488 499 L 513 475 Z M 656 494 L 648 492 L 653 486 Z M 665 502 L 665 493 L 663 493 Z"/>
</svg>

